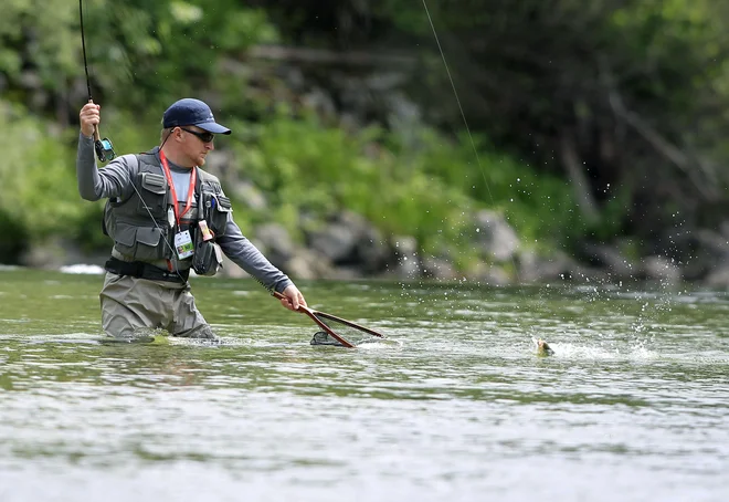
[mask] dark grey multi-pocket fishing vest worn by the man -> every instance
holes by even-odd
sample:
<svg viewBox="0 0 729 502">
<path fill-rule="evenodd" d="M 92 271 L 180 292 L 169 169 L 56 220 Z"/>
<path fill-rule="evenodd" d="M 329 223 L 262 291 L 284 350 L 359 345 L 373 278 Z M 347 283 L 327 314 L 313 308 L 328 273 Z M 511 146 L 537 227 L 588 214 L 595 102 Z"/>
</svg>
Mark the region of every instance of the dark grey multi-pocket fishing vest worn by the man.
<svg viewBox="0 0 729 502">
<path fill-rule="evenodd" d="M 105 233 L 114 240 L 114 248 L 119 253 L 135 261 L 155 262 L 175 258 L 177 230 L 170 226 L 168 212 L 177 201 L 171 200 L 167 177 L 156 153 L 157 148 L 137 155 L 139 169 L 131 180 L 131 196 L 123 200 L 109 199 L 104 208 Z M 197 208 L 192 221 L 180 224 L 180 231 L 189 230 L 193 242 L 199 231 L 198 221 L 204 219 L 216 238 L 225 233 L 231 212 L 231 201 L 223 196 L 220 180 L 197 169 Z"/>
</svg>

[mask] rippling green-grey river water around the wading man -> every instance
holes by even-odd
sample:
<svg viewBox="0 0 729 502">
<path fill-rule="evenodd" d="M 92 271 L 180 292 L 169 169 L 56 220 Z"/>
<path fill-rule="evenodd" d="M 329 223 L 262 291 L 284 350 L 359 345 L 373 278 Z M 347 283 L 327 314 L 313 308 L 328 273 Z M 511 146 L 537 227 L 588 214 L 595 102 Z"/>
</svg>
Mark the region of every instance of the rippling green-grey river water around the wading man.
<svg viewBox="0 0 729 502">
<path fill-rule="evenodd" d="M 729 295 L 193 279 L 220 346 L 108 344 L 99 275 L 0 271 L 0 501 L 726 501 Z M 556 354 L 538 357 L 532 337 Z"/>
</svg>

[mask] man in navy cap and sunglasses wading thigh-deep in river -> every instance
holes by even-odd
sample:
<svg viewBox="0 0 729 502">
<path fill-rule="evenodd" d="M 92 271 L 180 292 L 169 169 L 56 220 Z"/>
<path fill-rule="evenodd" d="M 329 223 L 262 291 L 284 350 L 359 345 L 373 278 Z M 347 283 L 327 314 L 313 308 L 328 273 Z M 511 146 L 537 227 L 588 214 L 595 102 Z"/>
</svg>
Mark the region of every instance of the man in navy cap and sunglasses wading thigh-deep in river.
<svg viewBox="0 0 729 502">
<path fill-rule="evenodd" d="M 221 250 L 266 289 L 282 293 L 285 307 L 306 305 L 294 283 L 243 237 L 220 181 L 201 169 L 214 135 L 231 133 L 205 103 L 176 102 L 162 117 L 159 147 L 124 155 L 101 170 L 94 156 L 101 107 L 87 103 L 80 118 L 78 192 L 86 200 L 109 199 L 104 227 L 114 248 L 99 294 L 108 335 L 133 339 L 165 328 L 172 336 L 216 338 L 198 312 L 188 276 L 191 268 L 214 274 Z"/>
</svg>

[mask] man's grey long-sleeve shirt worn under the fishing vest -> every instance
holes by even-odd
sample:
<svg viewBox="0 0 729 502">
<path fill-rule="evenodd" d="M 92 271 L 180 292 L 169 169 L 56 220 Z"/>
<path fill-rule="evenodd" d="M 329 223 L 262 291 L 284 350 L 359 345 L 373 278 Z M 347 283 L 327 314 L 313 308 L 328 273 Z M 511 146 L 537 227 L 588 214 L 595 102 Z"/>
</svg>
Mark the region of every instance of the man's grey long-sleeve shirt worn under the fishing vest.
<svg viewBox="0 0 729 502">
<path fill-rule="evenodd" d="M 126 199 L 134 194 L 131 180 L 135 179 L 138 171 L 139 164 L 136 155 L 117 157 L 104 169 L 97 169 L 94 139 L 83 134 L 80 135 L 78 151 L 76 154 L 76 178 L 78 180 L 78 194 L 81 194 L 82 198 L 92 201 L 102 198 Z M 176 175 L 182 175 L 172 176 L 172 180 L 178 199 L 187 198 L 188 185 L 183 181 L 186 169 L 170 165 L 170 171 L 176 171 Z M 187 169 L 187 172 L 189 172 L 189 169 Z M 288 285 L 293 284 L 286 274 L 275 268 L 243 236 L 232 217 L 228 219 L 225 234 L 219 237 L 215 242 L 220 244 L 220 248 L 228 258 L 261 282 L 266 289 L 281 293 Z M 182 265 L 182 262 L 179 264 Z"/>
</svg>

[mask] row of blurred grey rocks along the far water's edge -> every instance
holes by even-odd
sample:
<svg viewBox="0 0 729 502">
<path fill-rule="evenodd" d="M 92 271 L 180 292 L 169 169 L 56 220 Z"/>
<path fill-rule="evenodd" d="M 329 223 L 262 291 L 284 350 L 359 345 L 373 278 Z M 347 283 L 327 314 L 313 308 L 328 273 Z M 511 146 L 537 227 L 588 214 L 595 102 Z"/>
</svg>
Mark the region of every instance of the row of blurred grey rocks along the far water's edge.
<svg viewBox="0 0 729 502">
<path fill-rule="evenodd" d="M 413 236 L 385 238 L 352 212 L 340 212 L 311 228 L 304 231 L 304 241 L 298 242 L 284 226 L 264 223 L 254 229 L 250 239 L 272 263 L 297 280 L 430 279 L 492 285 L 646 281 L 729 287 L 727 237 L 708 230 L 686 238 L 695 257 L 687 261 L 661 254 L 630 258 L 616 244 L 584 243 L 578 255 L 570 255 L 562 250 L 525 250 L 525 243 L 503 216 L 483 210 L 474 215 L 469 261 L 459 266 L 463 261 L 457 253 L 425 253 Z M 55 238 L 23 252 L 20 263 L 47 270 L 78 264 L 99 268 L 107 258 L 104 251 L 85 253 L 74 242 Z M 246 274 L 225 259 L 220 275 Z"/>
</svg>

